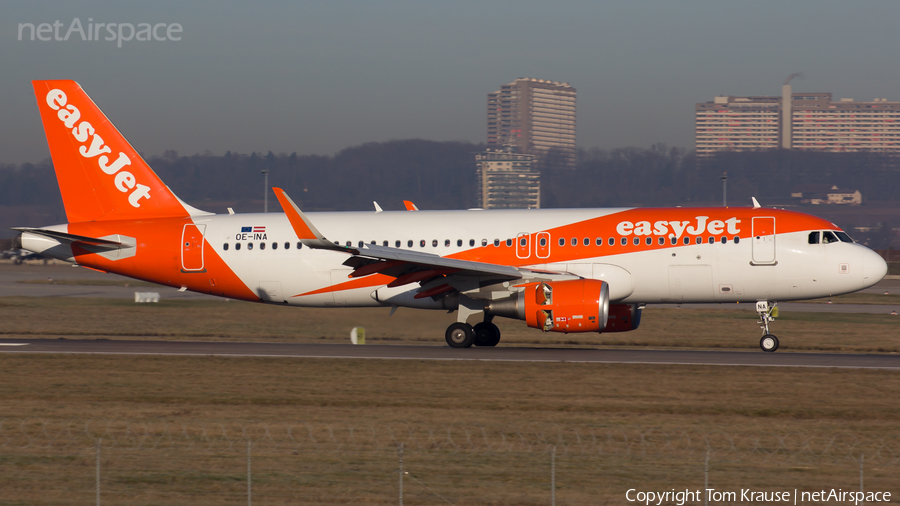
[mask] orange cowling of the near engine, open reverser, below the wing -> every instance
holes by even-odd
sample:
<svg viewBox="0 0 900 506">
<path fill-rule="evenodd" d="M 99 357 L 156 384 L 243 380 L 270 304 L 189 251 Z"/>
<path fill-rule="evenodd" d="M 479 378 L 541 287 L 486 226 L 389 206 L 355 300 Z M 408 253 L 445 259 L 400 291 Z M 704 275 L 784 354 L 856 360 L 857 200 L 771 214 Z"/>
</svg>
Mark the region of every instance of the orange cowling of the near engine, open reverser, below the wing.
<svg viewBox="0 0 900 506">
<path fill-rule="evenodd" d="M 525 323 L 544 332 L 600 332 L 609 317 L 609 285 L 596 279 L 550 281 L 525 289 Z"/>
</svg>

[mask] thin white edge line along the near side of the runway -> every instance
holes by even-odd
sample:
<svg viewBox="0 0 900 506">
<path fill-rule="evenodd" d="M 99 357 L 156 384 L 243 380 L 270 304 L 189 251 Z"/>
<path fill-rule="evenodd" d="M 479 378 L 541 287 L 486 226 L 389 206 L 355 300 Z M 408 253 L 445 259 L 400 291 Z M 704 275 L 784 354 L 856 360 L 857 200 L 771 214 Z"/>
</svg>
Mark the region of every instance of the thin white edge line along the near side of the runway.
<svg viewBox="0 0 900 506">
<path fill-rule="evenodd" d="M 351 357 L 345 355 L 273 355 L 273 354 L 240 354 L 240 353 L 176 353 L 176 352 L 119 352 L 119 351 L 21 351 L 11 353 L 28 354 L 60 354 L 60 355 L 140 355 L 140 356 L 175 356 L 175 357 L 227 357 L 227 358 L 325 358 L 325 359 L 375 359 L 375 360 L 432 360 L 432 361 L 471 361 L 471 362 L 547 362 L 571 364 L 616 364 L 616 365 L 680 365 L 680 366 L 718 366 L 718 367 L 799 367 L 805 369 L 870 369 L 896 371 L 900 366 L 865 366 L 865 365 L 828 365 L 828 364 L 742 364 L 736 362 L 677 362 L 677 361 L 628 361 L 628 360 L 555 360 L 555 359 L 515 359 L 515 358 L 458 358 L 458 357 Z"/>
</svg>

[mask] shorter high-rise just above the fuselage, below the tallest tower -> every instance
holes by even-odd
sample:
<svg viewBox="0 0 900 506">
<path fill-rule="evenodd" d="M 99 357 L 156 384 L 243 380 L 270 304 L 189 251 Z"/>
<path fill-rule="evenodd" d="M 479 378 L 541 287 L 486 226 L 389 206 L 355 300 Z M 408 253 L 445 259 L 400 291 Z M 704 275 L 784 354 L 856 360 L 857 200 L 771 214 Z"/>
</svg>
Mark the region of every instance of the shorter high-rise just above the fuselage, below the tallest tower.
<svg viewBox="0 0 900 506">
<path fill-rule="evenodd" d="M 515 153 L 511 146 L 475 155 L 478 167 L 478 207 L 483 209 L 538 209 L 541 175 L 533 167 L 535 156 Z"/>
</svg>

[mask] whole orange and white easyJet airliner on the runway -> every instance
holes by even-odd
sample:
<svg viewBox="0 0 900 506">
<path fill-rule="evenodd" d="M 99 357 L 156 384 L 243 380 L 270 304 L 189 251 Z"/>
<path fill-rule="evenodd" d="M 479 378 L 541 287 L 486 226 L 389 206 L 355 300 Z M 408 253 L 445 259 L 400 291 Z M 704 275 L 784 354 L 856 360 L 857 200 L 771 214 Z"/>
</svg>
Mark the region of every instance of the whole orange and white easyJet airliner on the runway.
<svg viewBox="0 0 900 506">
<path fill-rule="evenodd" d="M 454 348 L 495 346 L 501 316 L 544 332 L 636 329 L 646 304 L 756 304 L 854 292 L 887 264 L 840 228 L 759 207 L 217 215 L 176 197 L 74 81 L 34 81 L 69 223 L 22 247 L 232 299 L 457 311 Z M 470 319 L 481 319 L 474 327 Z"/>
</svg>

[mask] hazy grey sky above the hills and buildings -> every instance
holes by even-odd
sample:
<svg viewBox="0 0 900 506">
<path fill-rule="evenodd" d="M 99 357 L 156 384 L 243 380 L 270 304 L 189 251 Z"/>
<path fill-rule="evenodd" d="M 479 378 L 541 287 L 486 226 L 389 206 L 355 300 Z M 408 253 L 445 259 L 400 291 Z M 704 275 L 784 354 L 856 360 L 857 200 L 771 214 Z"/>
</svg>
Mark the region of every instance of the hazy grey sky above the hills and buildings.
<svg viewBox="0 0 900 506">
<path fill-rule="evenodd" d="M 29 0 L 0 13 L 0 162 L 49 156 L 32 79 L 75 79 L 148 155 L 483 142 L 486 95 L 517 77 L 578 90 L 586 148 L 693 148 L 694 103 L 778 95 L 793 72 L 795 91 L 900 100 L 896 0 Z M 183 32 L 121 48 L 18 40 L 19 23 L 64 32 L 74 18 Z"/>
</svg>

